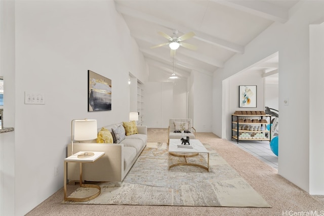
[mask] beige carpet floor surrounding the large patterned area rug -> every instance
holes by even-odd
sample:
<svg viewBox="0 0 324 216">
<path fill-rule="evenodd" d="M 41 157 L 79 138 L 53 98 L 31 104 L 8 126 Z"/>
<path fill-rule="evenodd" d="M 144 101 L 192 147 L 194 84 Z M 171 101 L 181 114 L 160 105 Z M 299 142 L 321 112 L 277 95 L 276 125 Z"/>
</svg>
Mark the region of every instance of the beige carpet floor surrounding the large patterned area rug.
<svg viewBox="0 0 324 216">
<path fill-rule="evenodd" d="M 63 188 L 26 215 L 311 215 L 324 212 L 324 196 L 311 196 L 277 170 L 212 133 L 197 133 L 209 143 L 272 207 L 191 207 L 62 204 Z M 167 129 L 148 129 L 148 142 L 167 142 Z M 280 166 L 280 165 L 279 165 Z M 317 211 L 317 212 L 316 212 Z M 305 212 L 309 214 L 305 214 Z M 300 213 L 300 214 L 297 214 Z M 301 214 L 304 213 L 304 214 Z M 316 214 L 313 214 L 316 215 Z"/>
</svg>

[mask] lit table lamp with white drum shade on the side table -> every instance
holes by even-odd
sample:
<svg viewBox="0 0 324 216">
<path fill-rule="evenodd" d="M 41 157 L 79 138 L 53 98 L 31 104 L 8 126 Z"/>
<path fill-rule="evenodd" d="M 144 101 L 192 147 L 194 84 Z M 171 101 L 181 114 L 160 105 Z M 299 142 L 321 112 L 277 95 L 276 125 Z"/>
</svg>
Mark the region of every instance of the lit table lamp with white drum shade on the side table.
<svg viewBox="0 0 324 216">
<path fill-rule="evenodd" d="M 97 138 L 97 120 L 73 119 L 71 121 L 71 155 L 73 155 L 73 122 L 74 122 L 74 140 L 83 141 Z M 93 156 L 93 152 L 85 152 L 77 155 L 79 158 Z"/>
</svg>

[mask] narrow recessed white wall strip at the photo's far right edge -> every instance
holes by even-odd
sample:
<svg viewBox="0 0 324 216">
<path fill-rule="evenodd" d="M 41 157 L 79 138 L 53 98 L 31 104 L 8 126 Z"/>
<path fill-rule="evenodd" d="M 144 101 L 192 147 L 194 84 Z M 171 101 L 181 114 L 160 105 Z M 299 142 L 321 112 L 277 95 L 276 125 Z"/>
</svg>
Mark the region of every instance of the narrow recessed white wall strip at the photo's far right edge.
<svg viewBox="0 0 324 216">
<path fill-rule="evenodd" d="M 324 17 L 323 17 L 324 18 Z M 324 23 L 310 25 L 310 110 L 309 110 L 309 193 L 324 194 L 324 145 L 323 122 L 321 115 L 324 100 L 318 95 L 322 92 L 324 81 Z M 319 93 L 320 92 L 320 93 Z"/>
</svg>

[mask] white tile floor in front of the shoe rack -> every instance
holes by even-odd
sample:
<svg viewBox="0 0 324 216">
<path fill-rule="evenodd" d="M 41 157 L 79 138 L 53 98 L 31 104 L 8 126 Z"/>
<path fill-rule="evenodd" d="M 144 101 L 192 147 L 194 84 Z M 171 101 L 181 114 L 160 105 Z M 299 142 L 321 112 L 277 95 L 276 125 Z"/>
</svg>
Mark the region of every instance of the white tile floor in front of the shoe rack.
<svg viewBox="0 0 324 216">
<path fill-rule="evenodd" d="M 239 148 L 259 158 L 264 163 L 278 169 L 278 157 L 271 151 L 270 143 L 268 141 L 240 140 L 237 143 L 236 140 L 232 140 L 231 142 Z"/>
</svg>

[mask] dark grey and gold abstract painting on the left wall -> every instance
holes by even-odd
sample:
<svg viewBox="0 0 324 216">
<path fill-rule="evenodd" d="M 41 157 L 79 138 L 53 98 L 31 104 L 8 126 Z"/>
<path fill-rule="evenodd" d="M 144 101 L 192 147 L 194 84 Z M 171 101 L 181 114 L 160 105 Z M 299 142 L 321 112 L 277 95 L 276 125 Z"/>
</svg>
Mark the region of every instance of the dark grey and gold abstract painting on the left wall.
<svg viewBox="0 0 324 216">
<path fill-rule="evenodd" d="M 111 79 L 88 70 L 88 112 L 111 110 Z"/>
</svg>

